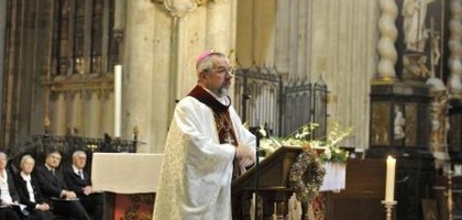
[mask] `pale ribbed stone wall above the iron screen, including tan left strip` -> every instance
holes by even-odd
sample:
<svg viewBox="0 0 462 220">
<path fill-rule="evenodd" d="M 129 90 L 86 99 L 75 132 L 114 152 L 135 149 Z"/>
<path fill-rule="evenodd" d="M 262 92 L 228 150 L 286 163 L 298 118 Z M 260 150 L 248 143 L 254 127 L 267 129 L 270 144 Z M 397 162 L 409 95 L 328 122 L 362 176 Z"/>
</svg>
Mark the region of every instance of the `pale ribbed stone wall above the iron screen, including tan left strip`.
<svg viewBox="0 0 462 220">
<path fill-rule="evenodd" d="M 329 119 L 354 128 L 344 144 L 366 148 L 377 8 L 369 0 L 239 1 L 239 63 L 324 80 Z"/>
</svg>

